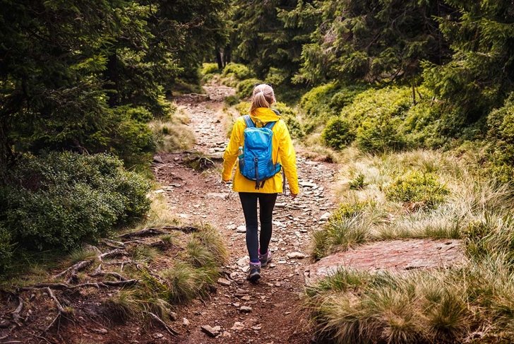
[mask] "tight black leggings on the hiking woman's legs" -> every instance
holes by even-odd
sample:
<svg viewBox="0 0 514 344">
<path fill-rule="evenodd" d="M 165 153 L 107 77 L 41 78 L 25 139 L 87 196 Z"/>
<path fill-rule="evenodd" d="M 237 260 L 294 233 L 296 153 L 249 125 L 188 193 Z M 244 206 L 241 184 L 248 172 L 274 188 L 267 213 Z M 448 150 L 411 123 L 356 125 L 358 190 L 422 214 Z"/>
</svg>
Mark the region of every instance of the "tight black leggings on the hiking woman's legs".
<svg viewBox="0 0 514 344">
<path fill-rule="evenodd" d="M 273 208 L 277 201 L 277 194 L 260 194 L 258 192 L 239 192 L 241 206 L 243 206 L 244 220 L 246 222 L 246 248 L 250 261 L 258 261 L 259 241 L 261 242 L 261 253 L 268 252 L 270 246 L 271 230 L 273 229 Z M 259 200 L 261 239 L 257 235 L 257 199 Z"/>
</svg>

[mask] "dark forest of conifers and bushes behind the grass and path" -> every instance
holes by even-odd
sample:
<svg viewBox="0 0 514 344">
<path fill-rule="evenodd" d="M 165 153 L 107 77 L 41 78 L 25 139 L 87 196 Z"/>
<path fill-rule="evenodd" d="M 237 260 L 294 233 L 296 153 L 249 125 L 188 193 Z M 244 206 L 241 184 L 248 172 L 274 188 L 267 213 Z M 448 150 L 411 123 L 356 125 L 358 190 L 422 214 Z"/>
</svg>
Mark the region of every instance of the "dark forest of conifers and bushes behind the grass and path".
<svg viewBox="0 0 514 344">
<path fill-rule="evenodd" d="M 1 271 L 15 254 L 68 251 L 140 220 L 162 143 L 150 122 L 172 119 L 174 95 L 201 93 L 216 73 L 241 99 L 273 84 L 297 137 L 373 154 L 479 150 L 484 174 L 513 177 L 511 1 L 1 8 Z"/>
</svg>

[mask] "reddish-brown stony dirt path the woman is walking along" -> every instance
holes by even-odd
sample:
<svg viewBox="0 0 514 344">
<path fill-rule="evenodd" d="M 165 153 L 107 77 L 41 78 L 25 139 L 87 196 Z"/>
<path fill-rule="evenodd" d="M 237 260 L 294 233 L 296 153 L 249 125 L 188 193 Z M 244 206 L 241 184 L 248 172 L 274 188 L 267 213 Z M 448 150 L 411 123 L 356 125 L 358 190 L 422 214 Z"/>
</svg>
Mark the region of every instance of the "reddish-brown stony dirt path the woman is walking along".
<svg viewBox="0 0 514 344">
<path fill-rule="evenodd" d="M 221 109 L 223 97 L 233 94 L 232 88 L 208 86 L 207 97 L 181 97 L 179 105 L 191 118 L 196 135 L 196 150 L 221 154 L 227 144 Z M 210 223 L 226 238 L 229 263 L 225 279 L 217 291 L 204 301 L 195 300 L 179 309 L 177 326 L 182 335 L 176 343 L 310 343 L 311 331 L 306 316 L 299 309 L 299 294 L 304 287 L 304 266 L 309 263 L 311 232 L 333 207 L 327 192 L 333 180 L 335 165 L 297 158 L 302 192 L 292 201 L 279 195 L 275 208 L 273 237 L 270 249 L 274 261 L 263 268 L 261 282 L 246 281 L 248 257 L 244 218 L 237 194 L 229 186 L 219 184 L 220 168 L 196 172 L 181 163 L 176 154 L 162 154 L 162 163 L 155 166 L 157 180 L 165 187 L 167 200 L 184 223 Z M 243 227 L 240 227 L 243 226 Z M 297 253 L 306 258 L 289 258 Z M 250 308 L 246 308 L 250 307 Z M 201 326 L 220 326 L 220 334 L 212 338 Z"/>
</svg>

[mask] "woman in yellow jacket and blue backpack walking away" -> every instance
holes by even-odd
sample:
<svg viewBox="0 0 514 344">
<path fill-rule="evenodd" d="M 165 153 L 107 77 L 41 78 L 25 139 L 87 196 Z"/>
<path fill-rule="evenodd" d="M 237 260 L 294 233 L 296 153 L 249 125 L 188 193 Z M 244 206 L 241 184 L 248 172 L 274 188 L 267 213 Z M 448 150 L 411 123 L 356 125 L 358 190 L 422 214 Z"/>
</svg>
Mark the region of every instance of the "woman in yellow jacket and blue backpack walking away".
<svg viewBox="0 0 514 344">
<path fill-rule="evenodd" d="M 272 258 L 269 244 L 273 208 L 283 186 L 281 168 L 289 182 L 291 197 L 299 193 L 291 136 L 280 114 L 270 109 L 274 102 L 275 93 L 270 85 L 261 84 L 253 89 L 250 114 L 239 117 L 234 123 L 229 145 L 223 155 L 223 182 L 231 179 L 234 164 L 239 157 L 232 189 L 239 193 L 246 222 L 246 247 L 250 256 L 247 279 L 252 283 L 261 278 L 261 267 L 267 266 Z M 260 237 L 257 201 L 260 208 Z"/>
</svg>

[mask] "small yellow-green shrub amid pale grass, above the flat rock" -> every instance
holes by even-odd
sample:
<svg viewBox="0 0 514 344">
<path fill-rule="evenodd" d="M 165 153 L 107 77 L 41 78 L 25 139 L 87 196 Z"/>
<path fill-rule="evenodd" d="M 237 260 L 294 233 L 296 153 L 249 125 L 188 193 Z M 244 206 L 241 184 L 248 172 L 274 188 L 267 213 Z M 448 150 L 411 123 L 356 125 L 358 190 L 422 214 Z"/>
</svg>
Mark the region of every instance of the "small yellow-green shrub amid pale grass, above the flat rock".
<svg viewBox="0 0 514 344">
<path fill-rule="evenodd" d="M 450 193 L 436 175 L 411 171 L 404 174 L 386 188 L 390 201 L 410 203 L 414 208 L 436 208 Z"/>
</svg>

